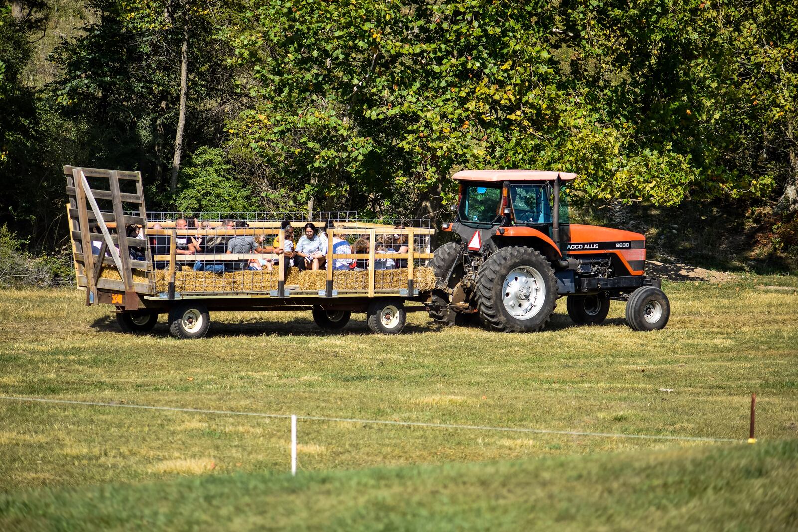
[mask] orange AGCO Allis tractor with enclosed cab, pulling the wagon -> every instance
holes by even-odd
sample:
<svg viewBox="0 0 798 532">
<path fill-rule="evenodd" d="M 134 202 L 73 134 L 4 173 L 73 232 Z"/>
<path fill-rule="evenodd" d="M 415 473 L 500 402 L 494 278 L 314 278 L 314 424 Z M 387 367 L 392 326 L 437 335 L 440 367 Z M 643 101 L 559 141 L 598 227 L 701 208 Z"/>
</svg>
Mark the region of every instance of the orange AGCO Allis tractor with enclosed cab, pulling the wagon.
<svg viewBox="0 0 798 532">
<path fill-rule="evenodd" d="M 599 324 L 610 301 L 626 301 L 632 329 L 662 329 L 670 302 L 646 276 L 646 237 L 569 223 L 564 184 L 576 175 L 539 170 L 464 170 L 454 223 L 460 235 L 435 251 L 435 320 L 491 329 L 538 331 L 567 297 L 577 324 Z"/>
</svg>

